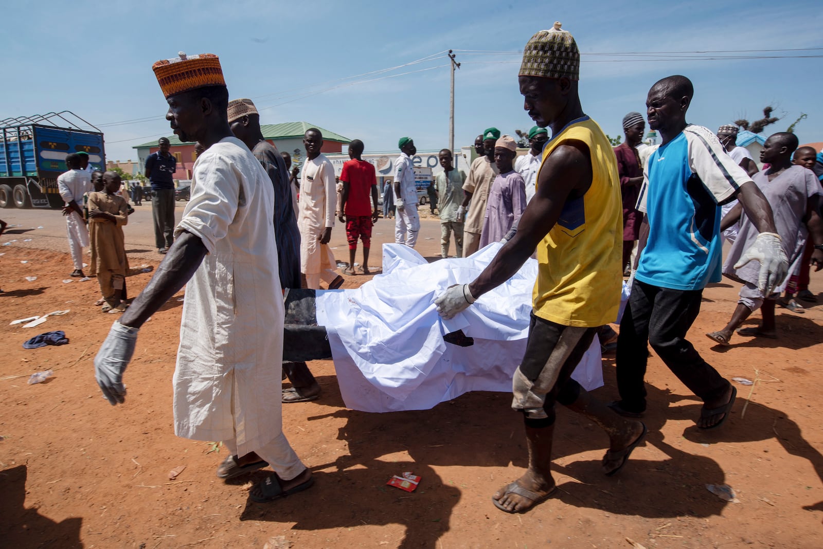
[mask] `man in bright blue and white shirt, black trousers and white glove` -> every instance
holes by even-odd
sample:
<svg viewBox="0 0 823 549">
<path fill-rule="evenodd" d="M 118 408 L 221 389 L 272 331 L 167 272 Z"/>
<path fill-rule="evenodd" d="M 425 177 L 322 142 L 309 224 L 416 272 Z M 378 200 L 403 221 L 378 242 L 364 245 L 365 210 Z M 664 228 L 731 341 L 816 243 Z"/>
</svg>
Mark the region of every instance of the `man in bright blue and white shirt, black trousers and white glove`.
<svg viewBox="0 0 823 549">
<path fill-rule="evenodd" d="M 617 339 L 617 413 L 640 417 L 646 409 L 648 344 L 666 366 L 704 401 L 698 427 L 718 427 L 737 391 L 686 340 L 700 312 L 703 288 L 720 281 L 720 205 L 741 202 L 760 233 L 737 266 L 760 261 L 761 290 L 771 292 L 786 274 L 769 202 L 749 175 L 724 152 L 708 128 L 686 123 L 694 88 L 686 76 L 668 76 L 649 90 L 649 127 L 663 145 L 649 157 L 638 210 L 648 235 L 639 254 Z M 641 228 L 641 241 L 644 230 Z M 642 242 L 641 242 L 642 243 Z"/>
</svg>

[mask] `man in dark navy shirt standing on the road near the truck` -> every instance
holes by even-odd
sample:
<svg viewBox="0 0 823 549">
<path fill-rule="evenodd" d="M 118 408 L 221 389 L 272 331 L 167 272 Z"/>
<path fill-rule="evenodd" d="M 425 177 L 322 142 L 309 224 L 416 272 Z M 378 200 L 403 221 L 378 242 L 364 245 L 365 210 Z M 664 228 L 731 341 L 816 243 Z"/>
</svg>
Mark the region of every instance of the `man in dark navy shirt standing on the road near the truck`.
<svg viewBox="0 0 823 549">
<path fill-rule="evenodd" d="M 146 159 L 143 172 L 151 182 L 151 215 L 155 222 L 155 243 L 157 251 L 165 254 L 174 241 L 174 170 L 177 159 L 169 152 L 170 142 L 166 137 L 157 141 L 160 150 Z"/>
</svg>

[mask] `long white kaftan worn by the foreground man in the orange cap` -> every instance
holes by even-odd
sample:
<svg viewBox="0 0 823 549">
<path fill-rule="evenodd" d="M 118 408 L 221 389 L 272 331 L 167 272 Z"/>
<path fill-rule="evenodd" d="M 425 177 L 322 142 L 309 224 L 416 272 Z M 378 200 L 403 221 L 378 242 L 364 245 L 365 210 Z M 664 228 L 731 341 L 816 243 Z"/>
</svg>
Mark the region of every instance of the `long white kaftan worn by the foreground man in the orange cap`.
<svg viewBox="0 0 823 549">
<path fill-rule="evenodd" d="M 208 251 L 186 287 L 174 432 L 198 441 L 236 439 L 239 455 L 282 437 L 285 313 L 273 217 L 274 189 L 263 166 L 241 141 L 225 137 L 195 161 L 191 199 L 174 229 L 175 237 L 197 235 Z M 285 446 L 288 461 L 294 452 Z"/>
</svg>

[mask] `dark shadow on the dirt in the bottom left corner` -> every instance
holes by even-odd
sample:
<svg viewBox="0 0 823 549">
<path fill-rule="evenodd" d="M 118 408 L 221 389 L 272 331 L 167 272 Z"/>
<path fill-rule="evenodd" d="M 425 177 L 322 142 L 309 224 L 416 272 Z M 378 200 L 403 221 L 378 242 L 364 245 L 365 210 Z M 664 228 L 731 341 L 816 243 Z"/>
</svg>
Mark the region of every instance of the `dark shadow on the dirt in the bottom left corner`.
<svg viewBox="0 0 823 549">
<path fill-rule="evenodd" d="M 0 471 L 0 539 L 3 547 L 83 547 L 79 517 L 57 523 L 26 509 L 26 465 Z"/>
</svg>

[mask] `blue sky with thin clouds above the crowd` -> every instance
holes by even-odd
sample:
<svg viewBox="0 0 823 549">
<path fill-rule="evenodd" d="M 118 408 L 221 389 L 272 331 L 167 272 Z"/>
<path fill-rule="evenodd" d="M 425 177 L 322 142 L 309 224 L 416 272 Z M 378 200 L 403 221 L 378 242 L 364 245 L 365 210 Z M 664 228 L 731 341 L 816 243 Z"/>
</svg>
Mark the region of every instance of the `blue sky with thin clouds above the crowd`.
<svg viewBox="0 0 823 549">
<path fill-rule="evenodd" d="M 797 136 L 801 143 L 823 141 L 823 58 L 591 55 L 823 55 L 819 0 L 564 3 L 575 5 L 15 2 L 3 7 L 0 118 L 71 110 L 105 132 L 108 159 L 136 159 L 132 145 L 170 135 L 151 64 L 182 50 L 219 55 L 230 96 L 253 98 L 264 108 L 263 123 L 305 120 L 360 138 L 366 152 L 395 150 L 400 136 L 412 136 L 419 150 L 439 150 L 449 143 L 449 69 L 442 52 L 451 48 L 471 50 L 457 51 L 463 66 L 455 92 L 455 145 L 469 145 L 486 127 L 514 133 L 532 126 L 518 93 L 518 55 L 505 52 L 522 51 L 534 32 L 561 21 L 584 53 L 584 111 L 612 136 L 621 134 L 625 113 L 645 113 L 654 81 L 683 74 L 695 84 L 690 122 L 714 130 L 736 118 L 760 118 L 772 104 L 783 120 L 765 133 L 784 131 L 807 113 Z M 778 48 L 821 49 L 763 51 Z"/>
</svg>

